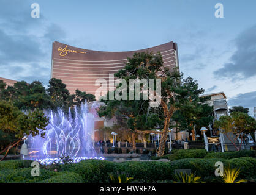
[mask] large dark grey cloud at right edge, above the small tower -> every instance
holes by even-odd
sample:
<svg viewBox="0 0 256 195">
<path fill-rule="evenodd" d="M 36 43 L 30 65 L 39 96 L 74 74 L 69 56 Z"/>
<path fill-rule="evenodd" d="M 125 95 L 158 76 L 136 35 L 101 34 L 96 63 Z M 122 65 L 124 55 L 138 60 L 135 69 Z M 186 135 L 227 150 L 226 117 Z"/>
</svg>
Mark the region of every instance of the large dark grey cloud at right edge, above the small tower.
<svg viewBox="0 0 256 195">
<path fill-rule="evenodd" d="M 234 41 L 236 51 L 230 63 L 214 71 L 215 77 L 237 80 L 256 76 L 256 25 L 244 30 Z"/>
</svg>

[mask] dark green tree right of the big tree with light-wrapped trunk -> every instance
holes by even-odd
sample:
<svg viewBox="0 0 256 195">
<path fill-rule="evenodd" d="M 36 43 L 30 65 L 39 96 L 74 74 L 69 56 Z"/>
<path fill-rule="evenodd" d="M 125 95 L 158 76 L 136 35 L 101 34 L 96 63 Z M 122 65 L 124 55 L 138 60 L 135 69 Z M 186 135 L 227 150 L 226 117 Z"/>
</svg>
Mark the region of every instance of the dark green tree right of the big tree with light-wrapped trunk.
<svg viewBox="0 0 256 195">
<path fill-rule="evenodd" d="M 195 126 L 208 126 L 213 120 L 213 107 L 207 104 L 210 97 L 200 97 L 205 90 L 198 87 L 197 80 L 187 77 L 176 88 L 176 103 L 173 121 L 179 129 L 192 132 L 192 140 L 195 140 Z"/>
</svg>

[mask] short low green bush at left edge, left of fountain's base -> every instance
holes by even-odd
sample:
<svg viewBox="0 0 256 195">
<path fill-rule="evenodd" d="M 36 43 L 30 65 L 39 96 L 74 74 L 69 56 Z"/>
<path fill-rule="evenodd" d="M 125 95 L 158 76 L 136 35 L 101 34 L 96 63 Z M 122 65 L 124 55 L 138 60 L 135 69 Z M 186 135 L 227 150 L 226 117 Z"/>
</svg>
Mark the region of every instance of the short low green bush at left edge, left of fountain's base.
<svg viewBox="0 0 256 195">
<path fill-rule="evenodd" d="M 31 160 L 5 160 L 0 161 L 0 171 L 4 169 L 28 168 L 31 166 Z"/>
</svg>

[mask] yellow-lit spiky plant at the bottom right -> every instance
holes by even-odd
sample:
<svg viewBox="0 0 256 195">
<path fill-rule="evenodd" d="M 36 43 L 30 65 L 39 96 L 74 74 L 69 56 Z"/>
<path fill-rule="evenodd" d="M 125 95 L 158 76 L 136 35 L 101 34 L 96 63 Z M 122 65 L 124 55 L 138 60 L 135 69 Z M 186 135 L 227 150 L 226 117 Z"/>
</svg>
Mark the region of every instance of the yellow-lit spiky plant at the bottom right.
<svg viewBox="0 0 256 195">
<path fill-rule="evenodd" d="M 227 167 L 224 167 L 224 177 L 222 178 L 224 180 L 224 183 L 242 183 L 246 182 L 246 180 L 236 180 L 239 175 L 240 169 L 239 168 L 230 168 L 230 165 Z"/>
</svg>

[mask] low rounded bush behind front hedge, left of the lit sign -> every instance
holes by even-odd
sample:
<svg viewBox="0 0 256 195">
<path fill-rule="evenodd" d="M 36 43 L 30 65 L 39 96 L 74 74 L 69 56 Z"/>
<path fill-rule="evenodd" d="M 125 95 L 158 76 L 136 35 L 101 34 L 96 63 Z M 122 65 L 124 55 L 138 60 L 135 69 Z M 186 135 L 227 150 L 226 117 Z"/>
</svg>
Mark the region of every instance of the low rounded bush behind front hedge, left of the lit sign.
<svg viewBox="0 0 256 195">
<path fill-rule="evenodd" d="M 179 149 L 169 156 L 169 160 L 179 160 L 183 158 L 204 158 L 207 154 L 205 149 Z"/>
</svg>

